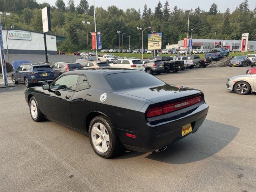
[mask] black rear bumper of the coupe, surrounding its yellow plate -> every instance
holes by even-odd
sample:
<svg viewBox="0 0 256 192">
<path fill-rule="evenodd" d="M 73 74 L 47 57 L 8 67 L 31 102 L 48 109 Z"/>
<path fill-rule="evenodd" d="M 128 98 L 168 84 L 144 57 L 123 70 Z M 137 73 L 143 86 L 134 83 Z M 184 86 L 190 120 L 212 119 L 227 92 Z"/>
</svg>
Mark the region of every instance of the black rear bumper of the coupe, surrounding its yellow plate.
<svg viewBox="0 0 256 192">
<path fill-rule="evenodd" d="M 178 115 L 164 119 L 165 121 L 167 120 L 167 122 L 161 123 L 159 120 L 154 120 L 152 122 L 148 121 L 144 127 L 140 124 L 140 127 L 136 128 L 136 132 L 132 133 L 137 136 L 136 139 L 125 137 L 125 132 L 127 131 L 117 129 L 119 138 L 128 150 L 138 152 L 152 152 L 168 146 L 191 133 L 196 132 L 202 125 L 209 108 L 206 103 L 202 103 L 196 108 L 188 107 L 186 110 L 182 109 L 182 113 L 178 112 Z M 187 124 L 191 124 L 192 132 L 182 136 L 182 126 Z"/>
</svg>

